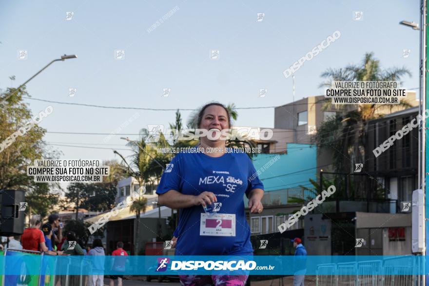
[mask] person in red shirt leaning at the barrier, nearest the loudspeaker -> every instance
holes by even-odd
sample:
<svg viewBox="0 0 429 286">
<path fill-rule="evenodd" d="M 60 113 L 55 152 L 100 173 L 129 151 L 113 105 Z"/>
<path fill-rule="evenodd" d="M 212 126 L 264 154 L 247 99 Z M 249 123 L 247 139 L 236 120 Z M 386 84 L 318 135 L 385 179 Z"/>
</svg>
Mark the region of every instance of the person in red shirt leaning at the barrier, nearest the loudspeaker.
<svg viewBox="0 0 429 286">
<path fill-rule="evenodd" d="M 61 251 L 56 252 L 48 250 L 45 244 L 45 237 L 43 232 L 40 230 L 41 223 L 42 220 L 39 214 L 35 214 L 31 217 L 30 227 L 24 229 L 24 233 L 22 233 L 21 236 L 22 248 L 26 250 L 47 252 L 51 255 L 62 254 Z"/>
</svg>

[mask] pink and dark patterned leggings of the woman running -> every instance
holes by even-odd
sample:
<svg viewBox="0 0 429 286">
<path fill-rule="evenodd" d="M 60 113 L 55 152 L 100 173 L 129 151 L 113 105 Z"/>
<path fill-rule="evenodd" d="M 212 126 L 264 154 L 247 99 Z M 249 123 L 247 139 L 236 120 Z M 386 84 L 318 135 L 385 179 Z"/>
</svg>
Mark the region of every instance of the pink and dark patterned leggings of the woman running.
<svg viewBox="0 0 429 286">
<path fill-rule="evenodd" d="M 248 275 L 179 275 L 182 286 L 244 286 Z"/>
</svg>

